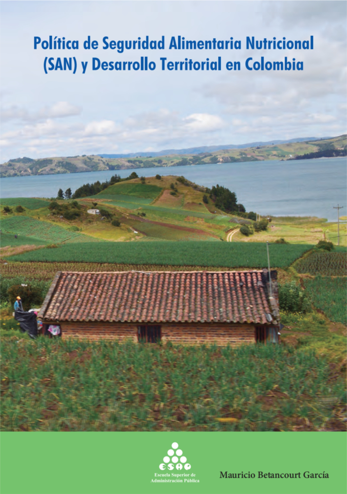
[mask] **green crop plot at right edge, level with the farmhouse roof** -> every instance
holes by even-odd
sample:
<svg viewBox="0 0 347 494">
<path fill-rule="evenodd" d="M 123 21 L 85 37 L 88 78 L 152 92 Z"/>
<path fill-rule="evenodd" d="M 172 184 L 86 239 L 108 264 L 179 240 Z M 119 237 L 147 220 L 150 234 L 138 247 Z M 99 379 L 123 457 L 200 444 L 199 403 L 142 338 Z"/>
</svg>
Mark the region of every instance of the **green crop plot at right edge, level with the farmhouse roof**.
<svg viewBox="0 0 347 494">
<path fill-rule="evenodd" d="M 314 280 L 303 282 L 316 309 L 322 310 L 331 321 L 347 324 L 346 277 L 316 276 Z"/>
</svg>

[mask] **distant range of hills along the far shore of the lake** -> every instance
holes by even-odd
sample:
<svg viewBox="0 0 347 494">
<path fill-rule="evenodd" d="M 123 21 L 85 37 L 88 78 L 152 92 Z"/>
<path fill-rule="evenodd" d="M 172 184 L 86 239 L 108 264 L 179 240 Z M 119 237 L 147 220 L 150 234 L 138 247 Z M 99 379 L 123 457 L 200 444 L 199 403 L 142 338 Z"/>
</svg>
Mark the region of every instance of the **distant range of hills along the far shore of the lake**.
<svg viewBox="0 0 347 494">
<path fill-rule="evenodd" d="M 244 161 L 309 159 L 346 155 L 346 135 L 325 139 L 253 142 L 227 146 L 168 149 L 157 153 L 102 154 L 10 159 L 0 165 L 1 177 L 81 173 L 170 166 L 241 163 Z"/>
</svg>

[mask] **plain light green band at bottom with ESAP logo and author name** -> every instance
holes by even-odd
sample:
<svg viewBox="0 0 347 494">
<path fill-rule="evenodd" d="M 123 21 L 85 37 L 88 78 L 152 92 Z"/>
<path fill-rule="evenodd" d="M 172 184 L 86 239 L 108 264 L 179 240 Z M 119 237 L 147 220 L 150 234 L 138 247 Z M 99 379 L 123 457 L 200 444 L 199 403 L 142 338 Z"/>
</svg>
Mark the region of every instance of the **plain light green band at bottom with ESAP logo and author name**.
<svg viewBox="0 0 347 494">
<path fill-rule="evenodd" d="M 347 492 L 345 432 L 2 432 L 0 439 L 1 494 Z M 159 465 L 173 442 L 191 465 L 178 473 L 199 483 L 151 482 L 167 472 Z M 221 471 L 256 478 L 225 479 Z M 258 479 L 259 471 L 301 478 Z M 329 478 L 304 479 L 305 471 Z"/>
</svg>

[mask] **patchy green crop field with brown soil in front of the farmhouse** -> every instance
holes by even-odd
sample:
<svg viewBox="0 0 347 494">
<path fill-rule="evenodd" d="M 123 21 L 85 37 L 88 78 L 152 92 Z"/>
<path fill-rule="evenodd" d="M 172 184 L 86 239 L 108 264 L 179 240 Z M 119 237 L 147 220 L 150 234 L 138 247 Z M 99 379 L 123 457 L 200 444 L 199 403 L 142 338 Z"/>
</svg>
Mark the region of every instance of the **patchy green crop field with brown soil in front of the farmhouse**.
<svg viewBox="0 0 347 494">
<path fill-rule="evenodd" d="M 13 332 L 3 338 L 2 359 L 2 430 L 343 430 L 345 425 L 344 377 L 313 351 L 42 337 L 32 342 L 18 341 Z"/>
</svg>

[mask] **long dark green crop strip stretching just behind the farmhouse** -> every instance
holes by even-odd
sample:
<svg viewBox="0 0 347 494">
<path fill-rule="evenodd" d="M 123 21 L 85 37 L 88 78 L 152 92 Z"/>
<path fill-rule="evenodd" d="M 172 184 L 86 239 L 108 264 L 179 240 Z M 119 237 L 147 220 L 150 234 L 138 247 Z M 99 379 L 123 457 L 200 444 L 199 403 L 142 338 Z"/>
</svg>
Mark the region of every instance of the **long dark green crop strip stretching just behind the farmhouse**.
<svg viewBox="0 0 347 494">
<path fill-rule="evenodd" d="M 271 245 L 270 259 L 274 268 L 287 267 L 302 256 L 308 245 Z M 176 266 L 223 266 L 230 268 L 267 267 L 263 243 L 227 242 L 99 242 L 80 243 L 79 248 L 64 244 L 57 249 L 39 249 L 11 257 L 25 262 L 100 262 L 120 264 L 162 264 Z"/>
</svg>

